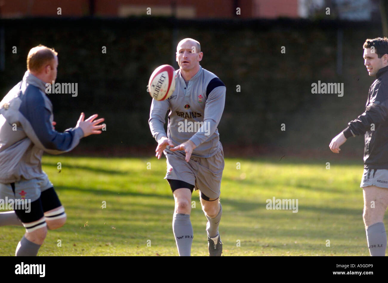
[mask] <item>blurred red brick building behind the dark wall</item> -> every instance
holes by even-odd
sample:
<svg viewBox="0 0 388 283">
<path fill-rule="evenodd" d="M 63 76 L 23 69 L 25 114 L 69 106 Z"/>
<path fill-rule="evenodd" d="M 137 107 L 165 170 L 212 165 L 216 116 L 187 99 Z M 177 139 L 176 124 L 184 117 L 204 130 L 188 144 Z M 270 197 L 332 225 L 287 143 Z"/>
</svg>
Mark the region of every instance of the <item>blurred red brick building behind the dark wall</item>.
<svg viewBox="0 0 388 283">
<path fill-rule="evenodd" d="M 186 19 L 296 18 L 298 0 L 0 0 L 0 17 L 175 15 Z M 149 9 L 150 8 L 150 9 Z"/>
</svg>

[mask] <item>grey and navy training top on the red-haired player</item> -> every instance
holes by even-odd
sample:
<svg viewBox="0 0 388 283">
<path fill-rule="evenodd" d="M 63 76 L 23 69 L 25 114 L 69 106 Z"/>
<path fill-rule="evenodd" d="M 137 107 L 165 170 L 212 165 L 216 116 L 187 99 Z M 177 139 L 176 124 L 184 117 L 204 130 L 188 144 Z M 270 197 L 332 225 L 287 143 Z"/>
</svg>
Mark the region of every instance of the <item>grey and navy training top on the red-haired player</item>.
<svg viewBox="0 0 388 283">
<path fill-rule="evenodd" d="M 54 130 L 52 104 L 45 83 L 28 71 L 0 102 L 0 183 L 44 176 L 43 151 L 72 150 L 83 137 L 81 128 Z"/>
</svg>

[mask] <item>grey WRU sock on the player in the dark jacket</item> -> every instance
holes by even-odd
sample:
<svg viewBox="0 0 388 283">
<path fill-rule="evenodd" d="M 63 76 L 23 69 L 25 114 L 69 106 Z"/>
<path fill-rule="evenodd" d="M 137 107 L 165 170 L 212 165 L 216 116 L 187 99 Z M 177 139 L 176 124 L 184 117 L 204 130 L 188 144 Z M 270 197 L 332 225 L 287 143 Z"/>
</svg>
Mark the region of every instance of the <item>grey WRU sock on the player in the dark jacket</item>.
<svg viewBox="0 0 388 283">
<path fill-rule="evenodd" d="M 383 222 L 369 226 L 366 229 L 366 239 L 371 256 L 385 256 L 387 234 Z"/>
</svg>

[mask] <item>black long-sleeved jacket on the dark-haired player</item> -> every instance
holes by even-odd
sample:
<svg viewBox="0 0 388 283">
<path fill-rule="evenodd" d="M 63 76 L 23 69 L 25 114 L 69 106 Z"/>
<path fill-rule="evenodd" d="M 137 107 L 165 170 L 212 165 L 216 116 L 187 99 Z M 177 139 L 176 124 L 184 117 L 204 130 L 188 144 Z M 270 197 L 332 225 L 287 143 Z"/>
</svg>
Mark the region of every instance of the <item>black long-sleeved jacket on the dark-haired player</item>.
<svg viewBox="0 0 388 283">
<path fill-rule="evenodd" d="M 388 169 L 388 66 L 376 73 L 365 112 L 350 121 L 343 133 L 345 138 L 365 135 L 365 169 Z"/>
</svg>

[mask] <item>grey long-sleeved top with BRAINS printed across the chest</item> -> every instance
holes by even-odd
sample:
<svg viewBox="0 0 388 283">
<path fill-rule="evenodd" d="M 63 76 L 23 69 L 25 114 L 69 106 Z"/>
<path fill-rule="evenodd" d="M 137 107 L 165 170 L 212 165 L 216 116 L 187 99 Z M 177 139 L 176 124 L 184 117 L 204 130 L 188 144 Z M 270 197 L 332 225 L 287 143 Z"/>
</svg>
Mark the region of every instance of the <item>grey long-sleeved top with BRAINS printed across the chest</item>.
<svg viewBox="0 0 388 283">
<path fill-rule="evenodd" d="M 152 136 L 156 141 L 167 136 L 175 146 L 191 140 L 196 145 L 192 156 L 211 157 L 220 144 L 217 126 L 225 106 L 226 87 L 215 74 L 201 66 L 187 86 L 180 69 L 175 72 L 173 94 L 164 101 L 152 99 L 148 121 Z M 163 124 L 168 110 L 166 135 Z"/>
</svg>

